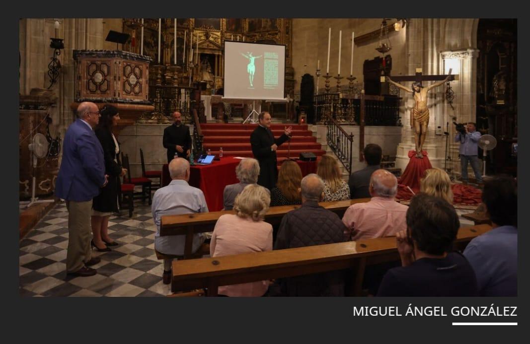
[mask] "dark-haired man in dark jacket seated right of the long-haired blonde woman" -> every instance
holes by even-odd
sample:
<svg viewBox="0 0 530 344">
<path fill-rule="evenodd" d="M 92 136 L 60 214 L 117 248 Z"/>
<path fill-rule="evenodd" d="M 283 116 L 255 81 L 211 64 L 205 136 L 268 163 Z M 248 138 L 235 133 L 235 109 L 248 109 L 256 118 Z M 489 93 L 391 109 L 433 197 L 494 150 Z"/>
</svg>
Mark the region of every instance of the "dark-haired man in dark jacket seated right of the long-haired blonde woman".
<svg viewBox="0 0 530 344">
<path fill-rule="evenodd" d="M 368 191 L 370 177 L 375 170 L 381 168 L 383 151 L 379 145 L 370 143 L 364 149 L 364 157 L 368 166 L 350 174 L 350 179 L 348 180 L 351 199 L 370 197 L 370 192 Z"/>
</svg>

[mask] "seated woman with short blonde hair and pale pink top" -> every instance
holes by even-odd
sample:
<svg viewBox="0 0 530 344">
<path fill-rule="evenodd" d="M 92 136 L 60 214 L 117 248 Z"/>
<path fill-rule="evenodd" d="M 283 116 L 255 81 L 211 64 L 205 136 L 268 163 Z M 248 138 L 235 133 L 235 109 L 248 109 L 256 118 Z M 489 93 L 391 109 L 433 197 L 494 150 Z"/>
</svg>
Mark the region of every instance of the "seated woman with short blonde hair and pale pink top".
<svg viewBox="0 0 530 344">
<path fill-rule="evenodd" d="M 236 215 L 219 217 L 211 236 L 210 255 L 243 254 L 272 250 L 272 226 L 263 221 L 269 210 L 269 190 L 257 184 L 246 186 L 234 201 Z M 263 296 L 269 281 L 221 286 L 219 295 Z"/>
</svg>

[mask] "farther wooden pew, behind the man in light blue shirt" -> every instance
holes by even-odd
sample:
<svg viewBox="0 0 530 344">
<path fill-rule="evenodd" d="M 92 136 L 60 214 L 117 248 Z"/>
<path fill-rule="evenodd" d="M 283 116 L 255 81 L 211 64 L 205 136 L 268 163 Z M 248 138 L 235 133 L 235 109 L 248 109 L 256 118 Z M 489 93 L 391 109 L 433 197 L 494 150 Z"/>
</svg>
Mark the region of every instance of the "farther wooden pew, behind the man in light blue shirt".
<svg viewBox="0 0 530 344">
<path fill-rule="evenodd" d="M 356 203 L 368 202 L 369 200 L 369 198 L 360 198 L 345 201 L 320 202 L 319 204 L 342 218 L 342 215 L 344 215 L 349 206 Z M 270 207 L 265 215 L 265 221 L 271 225 L 280 224 L 285 214 L 299 207 L 300 205 Z M 211 211 L 210 213 L 162 216 L 160 235 L 185 235 L 184 258 L 192 258 L 193 234 L 212 232 L 217 219 L 224 214 L 235 214 L 235 211 L 222 210 Z"/>
</svg>

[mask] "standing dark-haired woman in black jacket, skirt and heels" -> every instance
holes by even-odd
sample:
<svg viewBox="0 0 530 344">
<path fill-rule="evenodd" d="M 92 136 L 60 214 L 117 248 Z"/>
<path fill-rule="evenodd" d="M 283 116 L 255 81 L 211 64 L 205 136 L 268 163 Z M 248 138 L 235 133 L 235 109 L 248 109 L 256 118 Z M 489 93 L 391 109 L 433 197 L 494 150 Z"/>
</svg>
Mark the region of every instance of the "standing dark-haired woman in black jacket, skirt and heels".
<svg viewBox="0 0 530 344">
<path fill-rule="evenodd" d="M 116 126 L 120 120 L 118 109 L 105 104 L 100 110 L 100 114 L 101 118 L 94 132 L 103 147 L 105 174 L 109 176 L 109 182 L 104 188 L 101 188 L 100 194 L 94 197 L 92 202 L 92 234 L 94 239 L 91 241 L 91 245 L 96 250 L 105 252 L 110 251 L 108 246 L 118 245 L 109 237 L 109 217 L 118 211 L 119 177 L 125 175 L 127 170 L 123 169 L 118 160 L 120 147 L 116 137 L 112 134 L 112 127 Z"/>
</svg>

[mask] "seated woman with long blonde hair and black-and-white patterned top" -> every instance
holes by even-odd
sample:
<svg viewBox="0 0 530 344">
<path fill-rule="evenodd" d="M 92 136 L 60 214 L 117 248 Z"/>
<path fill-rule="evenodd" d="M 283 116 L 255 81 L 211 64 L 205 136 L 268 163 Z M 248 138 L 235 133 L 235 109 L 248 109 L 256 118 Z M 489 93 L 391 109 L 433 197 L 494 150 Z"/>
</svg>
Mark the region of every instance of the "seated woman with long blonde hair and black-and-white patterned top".
<svg viewBox="0 0 530 344">
<path fill-rule="evenodd" d="M 339 162 L 331 155 L 322 155 L 316 174 L 324 181 L 324 196 L 322 201 L 341 201 L 350 199 L 350 187 L 340 178 Z"/>
</svg>

